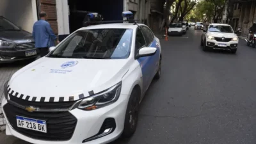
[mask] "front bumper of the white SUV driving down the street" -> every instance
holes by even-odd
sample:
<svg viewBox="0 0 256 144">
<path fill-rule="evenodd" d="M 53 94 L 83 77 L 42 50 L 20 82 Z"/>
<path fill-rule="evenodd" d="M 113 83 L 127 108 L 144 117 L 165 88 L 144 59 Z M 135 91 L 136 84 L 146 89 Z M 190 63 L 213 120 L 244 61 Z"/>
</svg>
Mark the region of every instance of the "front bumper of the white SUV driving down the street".
<svg viewBox="0 0 256 144">
<path fill-rule="evenodd" d="M 226 47 L 220 46 L 219 44 L 225 44 Z M 229 41 L 229 42 L 218 42 L 216 40 L 207 39 L 206 46 L 211 47 L 212 49 L 232 50 L 232 49 L 237 49 L 238 40 L 237 41 Z"/>
</svg>

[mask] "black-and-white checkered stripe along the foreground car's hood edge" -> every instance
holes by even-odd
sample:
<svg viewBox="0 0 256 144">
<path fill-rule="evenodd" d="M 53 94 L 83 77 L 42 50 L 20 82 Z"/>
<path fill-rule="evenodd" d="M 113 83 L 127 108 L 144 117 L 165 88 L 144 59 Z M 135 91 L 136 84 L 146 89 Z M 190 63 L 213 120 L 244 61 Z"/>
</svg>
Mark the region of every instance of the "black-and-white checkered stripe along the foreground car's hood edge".
<svg viewBox="0 0 256 144">
<path fill-rule="evenodd" d="M 84 96 L 84 93 L 70 97 L 33 97 L 31 95 L 24 95 L 22 93 L 15 92 L 14 90 L 12 90 L 12 88 L 10 88 L 10 85 L 7 86 L 7 92 L 10 97 L 17 97 L 31 102 L 72 102 L 87 97 L 87 95 Z M 88 93 L 89 96 L 94 95 L 93 91 L 90 91 Z"/>
</svg>

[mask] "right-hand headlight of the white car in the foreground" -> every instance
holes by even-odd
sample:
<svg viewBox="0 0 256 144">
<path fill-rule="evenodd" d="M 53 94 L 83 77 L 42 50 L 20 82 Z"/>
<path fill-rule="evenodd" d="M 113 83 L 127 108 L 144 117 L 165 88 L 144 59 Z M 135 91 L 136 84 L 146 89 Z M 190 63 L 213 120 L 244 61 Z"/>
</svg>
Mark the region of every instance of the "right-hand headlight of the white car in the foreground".
<svg viewBox="0 0 256 144">
<path fill-rule="evenodd" d="M 112 104 L 113 102 L 116 102 L 116 100 L 118 100 L 121 93 L 121 87 L 122 83 L 120 82 L 115 86 L 108 88 L 108 90 L 104 90 L 103 92 L 97 93 L 90 97 L 86 97 L 81 101 L 78 108 L 90 111 L 93 109 L 99 109 L 104 106 L 108 106 L 109 104 Z"/>
</svg>

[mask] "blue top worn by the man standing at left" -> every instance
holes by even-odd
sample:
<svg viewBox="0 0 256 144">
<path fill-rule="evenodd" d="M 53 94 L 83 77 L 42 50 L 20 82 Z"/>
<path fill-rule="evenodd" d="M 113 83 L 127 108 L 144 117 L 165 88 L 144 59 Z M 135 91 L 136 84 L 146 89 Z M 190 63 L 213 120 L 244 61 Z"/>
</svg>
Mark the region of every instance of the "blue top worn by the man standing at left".
<svg viewBox="0 0 256 144">
<path fill-rule="evenodd" d="M 35 47 L 52 47 L 57 36 L 54 35 L 49 22 L 38 20 L 33 26 L 33 38 L 35 39 Z"/>
</svg>

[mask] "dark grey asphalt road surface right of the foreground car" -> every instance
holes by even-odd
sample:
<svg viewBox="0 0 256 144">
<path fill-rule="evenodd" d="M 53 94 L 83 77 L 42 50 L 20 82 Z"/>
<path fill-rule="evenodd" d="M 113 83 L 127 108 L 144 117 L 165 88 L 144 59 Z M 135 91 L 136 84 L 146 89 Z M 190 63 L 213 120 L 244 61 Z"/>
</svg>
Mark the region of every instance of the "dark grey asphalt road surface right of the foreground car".
<svg viewBox="0 0 256 144">
<path fill-rule="evenodd" d="M 241 40 L 236 55 L 203 52 L 201 33 L 190 29 L 161 43 L 162 77 L 145 95 L 138 129 L 131 140 L 112 144 L 255 143 L 256 49 Z M 2 67 L 0 74 L 19 67 Z M 3 144 L 24 143 L 3 138 Z"/>
</svg>

